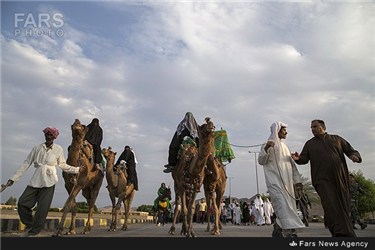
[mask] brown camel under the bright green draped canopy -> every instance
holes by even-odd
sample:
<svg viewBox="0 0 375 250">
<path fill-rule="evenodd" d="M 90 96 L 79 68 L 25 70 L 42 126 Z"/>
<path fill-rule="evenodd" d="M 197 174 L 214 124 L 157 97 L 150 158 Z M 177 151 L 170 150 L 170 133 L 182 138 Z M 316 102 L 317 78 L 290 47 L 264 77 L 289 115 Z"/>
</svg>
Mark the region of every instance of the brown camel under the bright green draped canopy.
<svg viewBox="0 0 375 250">
<path fill-rule="evenodd" d="M 203 180 L 204 195 L 207 201 L 207 207 L 214 206 L 215 224 L 212 229 L 212 234 L 220 235 L 222 225 L 220 222 L 220 204 L 224 197 L 225 186 L 227 183 L 227 176 L 225 173 L 223 163 L 210 155 L 207 161 L 207 168 L 212 172 L 211 175 L 206 175 Z M 206 232 L 210 231 L 210 220 L 207 222 Z"/>
</svg>

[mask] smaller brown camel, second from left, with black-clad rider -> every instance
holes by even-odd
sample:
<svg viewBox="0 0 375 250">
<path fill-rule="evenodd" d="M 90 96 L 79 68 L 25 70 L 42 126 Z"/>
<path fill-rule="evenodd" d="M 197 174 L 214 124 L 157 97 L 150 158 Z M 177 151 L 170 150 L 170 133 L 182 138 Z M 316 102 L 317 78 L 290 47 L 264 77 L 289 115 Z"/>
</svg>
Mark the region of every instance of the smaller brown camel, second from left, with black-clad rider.
<svg viewBox="0 0 375 250">
<path fill-rule="evenodd" d="M 120 211 L 121 203 L 124 204 L 125 219 L 122 225 L 122 230 L 128 229 L 128 219 L 130 214 L 131 203 L 135 195 L 134 184 L 127 185 L 127 172 L 122 169 L 122 165 L 116 166 L 115 157 L 117 152 L 111 150 L 111 147 L 103 148 L 102 153 L 107 160 L 106 179 L 108 183 L 109 197 L 112 202 L 112 220 L 108 231 L 116 231 L 117 214 Z M 117 202 L 116 202 L 117 198 Z"/>
</svg>

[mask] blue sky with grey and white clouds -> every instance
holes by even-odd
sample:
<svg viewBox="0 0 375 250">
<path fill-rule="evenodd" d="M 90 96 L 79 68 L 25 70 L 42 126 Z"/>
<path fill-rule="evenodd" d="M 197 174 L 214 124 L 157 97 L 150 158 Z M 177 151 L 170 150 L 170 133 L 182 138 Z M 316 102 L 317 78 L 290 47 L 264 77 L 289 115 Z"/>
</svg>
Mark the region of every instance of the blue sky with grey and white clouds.
<svg viewBox="0 0 375 250">
<path fill-rule="evenodd" d="M 132 207 L 153 204 L 168 146 L 192 112 L 227 131 L 225 196 L 267 192 L 259 145 L 272 123 L 300 152 L 313 119 L 348 140 L 375 180 L 375 5 L 371 1 L 1 1 L 1 183 L 42 130 L 70 145 L 71 124 L 99 118 L 102 147 L 136 153 Z M 310 179 L 310 166 L 298 165 Z M 17 199 L 34 170 L 1 193 Z M 52 207 L 68 194 L 58 170 Z M 97 207 L 109 206 L 104 180 Z M 200 192 L 198 198 L 203 197 Z M 77 201 L 85 201 L 79 194 Z"/>
</svg>

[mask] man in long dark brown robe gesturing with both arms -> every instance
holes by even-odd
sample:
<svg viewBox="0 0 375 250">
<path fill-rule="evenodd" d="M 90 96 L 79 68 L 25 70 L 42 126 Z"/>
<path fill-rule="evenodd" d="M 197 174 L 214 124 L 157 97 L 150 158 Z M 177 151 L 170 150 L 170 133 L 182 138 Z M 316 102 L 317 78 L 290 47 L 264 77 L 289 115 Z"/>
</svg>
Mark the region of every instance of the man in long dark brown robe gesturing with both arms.
<svg viewBox="0 0 375 250">
<path fill-rule="evenodd" d="M 358 163 L 362 162 L 361 155 L 344 138 L 328 134 L 322 120 L 311 122 L 311 132 L 314 137 L 305 143 L 300 154 L 293 153 L 292 158 L 299 165 L 310 161 L 312 185 L 320 196 L 324 224 L 332 237 L 356 237 L 350 218 L 345 155 Z"/>
</svg>

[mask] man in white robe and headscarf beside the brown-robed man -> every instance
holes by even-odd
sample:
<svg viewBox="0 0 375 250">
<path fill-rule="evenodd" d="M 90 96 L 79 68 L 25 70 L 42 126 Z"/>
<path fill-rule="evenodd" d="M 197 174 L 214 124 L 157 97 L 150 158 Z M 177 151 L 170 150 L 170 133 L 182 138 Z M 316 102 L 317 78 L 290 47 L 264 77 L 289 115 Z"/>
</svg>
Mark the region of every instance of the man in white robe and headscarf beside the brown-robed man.
<svg viewBox="0 0 375 250">
<path fill-rule="evenodd" d="M 271 135 L 262 145 L 258 162 L 263 165 L 264 176 L 272 206 L 276 214 L 275 237 L 296 237 L 296 229 L 305 225 L 297 214 L 296 188 L 302 188 L 301 175 L 291 158 L 288 146 L 281 141 L 287 135 L 287 124 L 275 122 L 271 125 Z"/>
</svg>

